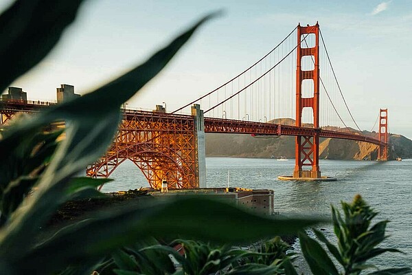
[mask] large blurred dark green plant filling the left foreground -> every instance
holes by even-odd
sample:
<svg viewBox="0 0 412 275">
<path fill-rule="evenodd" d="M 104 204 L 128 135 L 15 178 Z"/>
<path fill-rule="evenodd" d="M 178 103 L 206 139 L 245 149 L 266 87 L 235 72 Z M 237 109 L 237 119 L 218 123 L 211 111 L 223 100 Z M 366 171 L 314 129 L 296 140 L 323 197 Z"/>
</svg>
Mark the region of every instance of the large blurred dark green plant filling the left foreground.
<svg viewBox="0 0 412 275">
<path fill-rule="evenodd" d="M 0 90 L 41 61 L 76 17 L 81 0 L 17 0 L 0 15 Z M 0 270 L 2 274 L 90 274 L 107 254 L 150 236 L 188 236 L 245 242 L 297 232 L 320 219 L 260 217 L 201 196 L 150 200 L 99 212 L 57 232 L 45 225 L 73 197 L 96 194 L 96 179 L 73 179 L 111 144 L 120 107 L 155 77 L 190 36 L 214 14 L 196 22 L 170 44 L 102 87 L 2 129 L 0 140 Z M 53 122 L 60 133 L 43 134 Z M 24 164 L 24 165 L 22 165 Z M 47 164 L 47 166 L 45 165 Z M 27 192 L 35 187 L 30 196 Z M 177 222 L 179 221 L 179 222 Z M 233 228 L 236 231 L 233 232 Z"/>
</svg>

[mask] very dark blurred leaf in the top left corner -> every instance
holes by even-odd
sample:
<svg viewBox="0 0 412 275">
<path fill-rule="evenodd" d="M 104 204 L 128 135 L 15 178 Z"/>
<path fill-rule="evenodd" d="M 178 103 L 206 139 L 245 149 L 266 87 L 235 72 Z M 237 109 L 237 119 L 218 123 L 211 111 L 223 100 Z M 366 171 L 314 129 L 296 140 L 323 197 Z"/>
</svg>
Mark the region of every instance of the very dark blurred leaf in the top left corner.
<svg viewBox="0 0 412 275">
<path fill-rule="evenodd" d="M 0 94 L 39 63 L 76 18 L 82 0 L 17 0 L 0 15 Z"/>
</svg>

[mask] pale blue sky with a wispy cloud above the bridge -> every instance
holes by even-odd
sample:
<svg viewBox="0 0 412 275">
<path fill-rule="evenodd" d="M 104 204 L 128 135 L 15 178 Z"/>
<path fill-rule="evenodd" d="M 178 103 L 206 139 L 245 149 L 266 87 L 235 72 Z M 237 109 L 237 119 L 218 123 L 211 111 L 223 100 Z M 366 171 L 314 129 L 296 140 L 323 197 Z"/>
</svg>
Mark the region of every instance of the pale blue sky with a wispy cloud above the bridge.
<svg viewBox="0 0 412 275">
<path fill-rule="evenodd" d="M 1 0 L 0 10 L 12 1 Z M 361 129 L 388 109 L 389 131 L 412 139 L 412 1 L 89 0 L 55 49 L 10 86 L 34 100 L 56 100 L 60 84 L 76 93 L 127 72 L 208 12 L 224 14 L 196 32 L 129 107 L 168 111 L 236 76 L 297 23 L 319 21 L 347 104 Z M 4 66 L 4 65 L 3 65 Z"/>
</svg>

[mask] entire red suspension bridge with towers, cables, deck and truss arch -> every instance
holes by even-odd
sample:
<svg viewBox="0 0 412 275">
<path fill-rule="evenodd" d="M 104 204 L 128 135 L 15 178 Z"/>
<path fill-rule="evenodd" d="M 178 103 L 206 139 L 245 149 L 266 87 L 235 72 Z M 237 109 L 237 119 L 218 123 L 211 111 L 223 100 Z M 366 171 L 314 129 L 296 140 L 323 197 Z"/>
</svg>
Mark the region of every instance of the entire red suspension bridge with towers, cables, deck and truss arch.
<svg viewBox="0 0 412 275">
<path fill-rule="evenodd" d="M 48 104 L 2 100 L 0 124 Z M 376 144 L 378 159 L 387 160 L 387 109 L 380 109 L 376 136 L 364 135 L 343 97 L 318 23 L 297 25 L 251 67 L 175 111 L 161 105 L 123 111 L 106 155 L 87 167 L 90 177 L 109 177 L 129 159 L 152 188 L 205 187 L 205 133 L 293 135 L 293 178 L 299 179 L 323 178 L 319 137 Z"/>
</svg>

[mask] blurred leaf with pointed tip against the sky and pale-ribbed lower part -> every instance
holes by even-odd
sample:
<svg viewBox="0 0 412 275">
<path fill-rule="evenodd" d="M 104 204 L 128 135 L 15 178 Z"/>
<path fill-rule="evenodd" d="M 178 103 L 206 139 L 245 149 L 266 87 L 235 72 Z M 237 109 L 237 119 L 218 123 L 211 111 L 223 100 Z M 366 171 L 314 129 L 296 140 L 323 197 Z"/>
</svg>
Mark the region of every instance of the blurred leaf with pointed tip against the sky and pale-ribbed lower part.
<svg viewBox="0 0 412 275">
<path fill-rule="evenodd" d="M 0 258 L 3 261 L 8 259 L 16 263 L 21 255 L 30 250 L 39 228 L 58 208 L 60 198 L 65 196 L 64 186 L 68 179 L 103 155 L 107 146 L 111 144 L 117 131 L 119 107 L 122 102 L 153 78 L 196 28 L 210 17 L 212 15 L 198 21 L 146 63 L 117 80 L 91 94 L 33 115 L 5 131 L 3 140 L 0 141 L 0 151 L 12 153 L 8 148 L 19 144 L 16 140 L 36 131 L 39 126 L 55 120 L 71 120 L 65 140 L 58 146 L 54 161 L 47 167 L 38 184 L 39 190 L 27 200 L 24 207 L 14 212 L 10 226 L 0 231 Z"/>
</svg>

